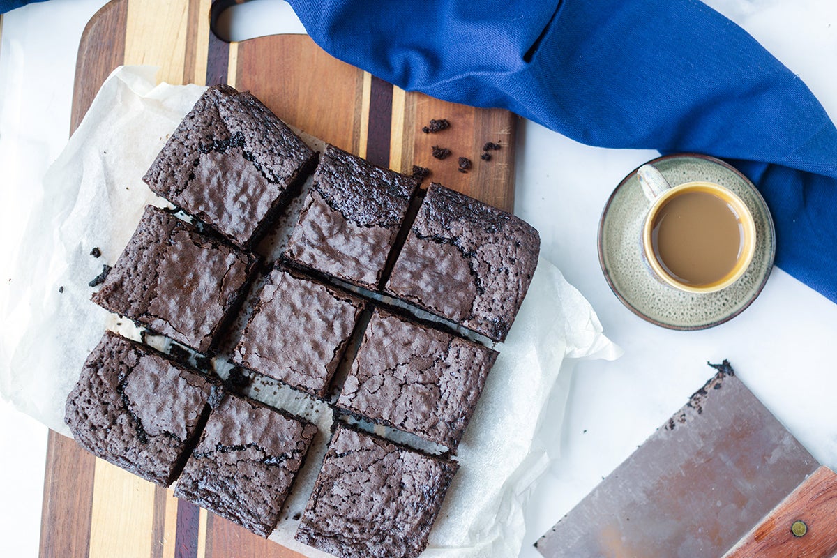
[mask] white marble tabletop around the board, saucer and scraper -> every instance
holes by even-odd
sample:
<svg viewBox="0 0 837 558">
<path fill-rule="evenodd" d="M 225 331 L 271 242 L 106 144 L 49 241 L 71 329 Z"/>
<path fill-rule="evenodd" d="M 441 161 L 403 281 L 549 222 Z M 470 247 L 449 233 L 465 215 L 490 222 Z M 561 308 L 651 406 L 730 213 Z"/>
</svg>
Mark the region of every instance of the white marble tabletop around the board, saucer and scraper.
<svg viewBox="0 0 837 558">
<path fill-rule="evenodd" d="M 59 154 L 69 130 L 75 50 L 103 0 L 51 0 L 7 14 L 0 44 L 0 279 L 19 240 L 28 192 Z M 837 3 L 834 0 L 709 0 L 804 79 L 837 115 Z M 298 31 L 284 3 L 238 8 L 235 38 Z M 275 10 L 266 17 L 261 10 Z M 44 76 L 51 76 L 44 83 Z M 706 361 L 729 359 L 739 376 L 809 448 L 837 468 L 837 305 L 774 270 L 742 315 L 711 330 L 663 330 L 640 320 L 610 292 L 598 266 L 596 235 L 614 186 L 653 151 L 582 146 L 523 122 L 516 212 L 542 234 L 543 253 L 597 310 L 624 348 L 618 361 L 590 361 L 573 376 L 552 468 L 531 499 L 529 546 L 618 465 L 711 376 Z M 45 432 L 0 405 L 0 555 L 37 554 Z M 23 449 L 23 453 L 21 450 Z M 17 461 L 14 456 L 29 456 Z M 10 477 L 9 475 L 13 475 Z M 13 513 L 10 513 L 13 511 Z"/>
</svg>

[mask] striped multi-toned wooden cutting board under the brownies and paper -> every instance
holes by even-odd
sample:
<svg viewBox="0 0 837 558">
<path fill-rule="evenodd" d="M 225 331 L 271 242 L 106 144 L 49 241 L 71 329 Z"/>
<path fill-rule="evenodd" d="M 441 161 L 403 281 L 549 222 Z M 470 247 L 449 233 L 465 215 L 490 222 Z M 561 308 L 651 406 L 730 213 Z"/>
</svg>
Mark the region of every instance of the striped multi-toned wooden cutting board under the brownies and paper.
<svg viewBox="0 0 837 558">
<path fill-rule="evenodd" d="M 121 64 L 161 67 L 172 84 L 229 83 L 250 90 L 281 119 L 381 166 L 410 173 L 431 169 L 429 181 L 511 211 L 514 203 L 516 117 L 405 92 L 332 58 L 304 35 L 225 43 L 211 19 L 234 2 L 113 0 L 90 20 L 76 65 L 71 131 L 100 85 Z M 211 17 L 212 14 L 212 17 Z M 430 119 L 451 127 L 421 131 Z M 501 144 L 481 161 L 487 141 Z M 447 147 L 444 161 L 431 147 Z M 467 173 L 457 159 L 473 162 Z M 425 184 L 426 186 L 426 184 Z M 41 556 L 91 558 L 299 558 L 197 506 L 171 489 L 93 458 L 50 431 L 44 481 Z"/>
</svg>

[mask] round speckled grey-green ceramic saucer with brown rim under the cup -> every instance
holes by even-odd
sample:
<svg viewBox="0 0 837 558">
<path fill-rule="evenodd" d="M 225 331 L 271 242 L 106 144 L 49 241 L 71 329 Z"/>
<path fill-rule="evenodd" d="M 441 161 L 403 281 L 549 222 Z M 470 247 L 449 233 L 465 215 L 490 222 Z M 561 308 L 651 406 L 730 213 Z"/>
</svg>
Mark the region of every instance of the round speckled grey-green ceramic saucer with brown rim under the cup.
<svg viewBox="0 0 837 558">
<path fill-rule="evenodd" d="M 685 293 L 660 282 L 642 260 L 639 236 L 649 203 L 634 170 L 611 194 L 598 225 L 598 261 L 605 279 L 634 314 L 662 327 L 703 330 L 732 320 L 762 292 L 773 269 L 776 233 L 762 195 L 747 177 L 714 157 L 673 155 L 650 162 L 671 184 L 715 182 L 741 197 L 756 222 L 756 252 L 741 279 L 716 293 Z"/>
</svg>

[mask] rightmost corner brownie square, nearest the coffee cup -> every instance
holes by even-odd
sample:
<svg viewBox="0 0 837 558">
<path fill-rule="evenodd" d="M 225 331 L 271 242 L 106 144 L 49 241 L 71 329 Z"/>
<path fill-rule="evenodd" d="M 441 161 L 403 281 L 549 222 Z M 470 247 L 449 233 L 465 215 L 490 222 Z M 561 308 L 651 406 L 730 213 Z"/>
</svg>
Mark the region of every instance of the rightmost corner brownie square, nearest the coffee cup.
<svg viewBox="0 0 837 558">
<path fill-rule="evenodd" d="M 431 184 L 386 291 L 501 341 L 537 266 L 541 239 L 528 223 Z"/>
</svg>

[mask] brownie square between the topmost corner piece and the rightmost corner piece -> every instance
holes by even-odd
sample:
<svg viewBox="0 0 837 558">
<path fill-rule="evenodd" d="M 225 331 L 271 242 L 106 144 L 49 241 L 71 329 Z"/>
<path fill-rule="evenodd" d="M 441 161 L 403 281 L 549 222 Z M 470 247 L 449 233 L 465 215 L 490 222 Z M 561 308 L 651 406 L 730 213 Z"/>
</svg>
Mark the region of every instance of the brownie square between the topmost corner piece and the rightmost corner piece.
<svg viewBox="0 0 837 558">
<path fill-rule="evenodd" d="M 419 183 L 328 146 L 285 258 L 377 289 Z"/>
</svg>

